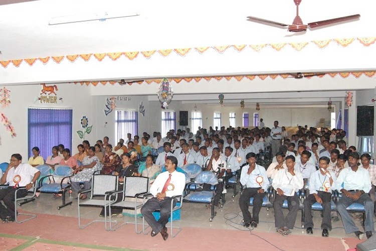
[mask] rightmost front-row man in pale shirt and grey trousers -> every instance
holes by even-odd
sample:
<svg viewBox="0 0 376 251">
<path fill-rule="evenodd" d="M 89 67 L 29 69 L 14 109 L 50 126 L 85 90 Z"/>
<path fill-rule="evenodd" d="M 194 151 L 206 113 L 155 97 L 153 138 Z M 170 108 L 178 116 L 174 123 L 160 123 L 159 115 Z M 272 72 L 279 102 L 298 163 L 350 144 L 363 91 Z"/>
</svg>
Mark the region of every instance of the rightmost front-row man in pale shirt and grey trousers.
<svg viewBox="0 0 376 251">
<path fill-rule="evenodd" d="M 354 221 L 351 219 L 346 208 L 352 203 L 356 202 L 364 205 L 365 221 L 364 228 L 367 238 L 372 236 L 374 232 L 373 225 L 373 202 L 370 199 L 368 192 L 371 189 L 371 179 L 369 173 L 358 165 L 359 154 L 356 152 L 348 155 L 348 168 L 343 169 L 337 178 L 335 188 L 342 193 L 337 203 L 337 211 L 341 215 L 343 227 L 345 232 L 355 233 L 355 236 L 362 239 L 364 233 L 359 231 Z M 342 187 L 343 183 L 343 187 Z"/>
</svg>

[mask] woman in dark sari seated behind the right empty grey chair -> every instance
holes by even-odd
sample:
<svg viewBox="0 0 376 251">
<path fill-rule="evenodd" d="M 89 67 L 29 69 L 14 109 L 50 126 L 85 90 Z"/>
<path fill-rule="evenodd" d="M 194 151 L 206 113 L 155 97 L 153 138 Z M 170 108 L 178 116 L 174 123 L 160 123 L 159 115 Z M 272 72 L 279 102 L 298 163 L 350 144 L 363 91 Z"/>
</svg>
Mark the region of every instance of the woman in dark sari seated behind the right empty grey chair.
<svg viewBox="0 0 376 251">
<path fill-rule="evenodd" d="M 121 160 L 123 161 L 123 164 L 118 165 L 117 168 L 116 168 L 116 171 L 115 171 L 115 175 L 119 176 L 119 184 L 118 184 L 118 187 L 117 187 L 118 191 L 123 190 L 123 185 L 124 185 L 124 180 L 125 180 L 124 177 L 139 176 L 138 171 L 137 171 L 137 167 L 134 166 L 130 161 L 130 154 L 128 154 L 128 153 L 123 154 L 121 156 Z M 117 195 L 117 201 L 116 202 L 121 201 L 121 199 L 122 199 L 122 194 L 120 193 L 120 194 Z M 112 208 L 111 207 L 111 215 L 121 214 L 122 211 L 123 210 L 121 208 Z M 108 213 L 109 213 L 109 210 L 107 208 L 107 214 Z M 102 209 L 99 216 L 104 217 L 104 208 Z"/>
</svg>

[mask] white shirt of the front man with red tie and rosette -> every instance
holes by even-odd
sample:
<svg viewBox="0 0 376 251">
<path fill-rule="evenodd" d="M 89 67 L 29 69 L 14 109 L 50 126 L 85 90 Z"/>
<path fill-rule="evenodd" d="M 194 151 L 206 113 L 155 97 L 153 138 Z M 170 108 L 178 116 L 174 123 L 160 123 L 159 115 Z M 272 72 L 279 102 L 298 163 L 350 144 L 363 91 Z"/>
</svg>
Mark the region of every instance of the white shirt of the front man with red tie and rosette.
<svg viewBox="0 0 376 251">
<path fill-rule="evenodd" d="M 169 172 L 160 173 L 153 184 L 150 187 L 150 193 L 156 197 L 157 193 L 161 193 L 166 183 Z M 185 175 L 183 173 L 179 173 L 177 171 L 173 171 L 171 173 L 171 179 L 168 183 L 166 197 L 172 197 L 176 195 L 182 195 L 185 187 Z"/>
</svg>

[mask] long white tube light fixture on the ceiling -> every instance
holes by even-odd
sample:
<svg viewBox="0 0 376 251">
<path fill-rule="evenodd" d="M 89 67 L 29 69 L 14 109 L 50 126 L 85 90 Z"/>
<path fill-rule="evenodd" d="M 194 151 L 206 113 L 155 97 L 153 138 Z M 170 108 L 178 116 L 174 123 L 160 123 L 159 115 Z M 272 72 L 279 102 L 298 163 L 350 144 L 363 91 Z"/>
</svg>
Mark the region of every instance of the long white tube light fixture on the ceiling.
<svg viewBox="0 0 376 251">
<path fill-rule="evenodd" d="M 107 12 L 101 14 L 84 14 L 84 15 L 75 15 L 75 16 L 62 16 L 62 17 L 54 17 L 48 22 L 48 25 L 61 25 L 61 24 L 71 24 L 71 23 L 79 23 L 79 22 L 87 22 L 87 21 L 106 21 L 107 19 L 115 19 L 115 18 L 127 18 L 127 17 L 137 17 L 138 14 L 108 14 Z"/>
</svg>

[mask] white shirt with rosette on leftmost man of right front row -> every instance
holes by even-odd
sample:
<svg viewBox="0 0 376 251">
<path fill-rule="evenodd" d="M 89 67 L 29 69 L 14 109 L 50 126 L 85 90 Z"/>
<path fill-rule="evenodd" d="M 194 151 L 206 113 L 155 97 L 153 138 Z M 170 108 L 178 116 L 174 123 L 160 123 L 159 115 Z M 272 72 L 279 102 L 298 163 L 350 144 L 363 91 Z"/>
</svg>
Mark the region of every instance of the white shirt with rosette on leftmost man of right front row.
<svg viewBox="0 0 376 251">
<path fill-rule="evenodd" d="M 269 187 L 269 179 L 266 175 L 265 168 L 256 164 L 255 170 L 248 174 L 249 166 L 244 166 L 240 174 L 240 183 L 247 188 L 262 188 L 266 192 Z M 257 178 L 261 176 L 262 179 Z M 257 180 L 256 180 L 257 179 Z M 262 181 L 258 183 L 257 181 Z"/>
</svg>

